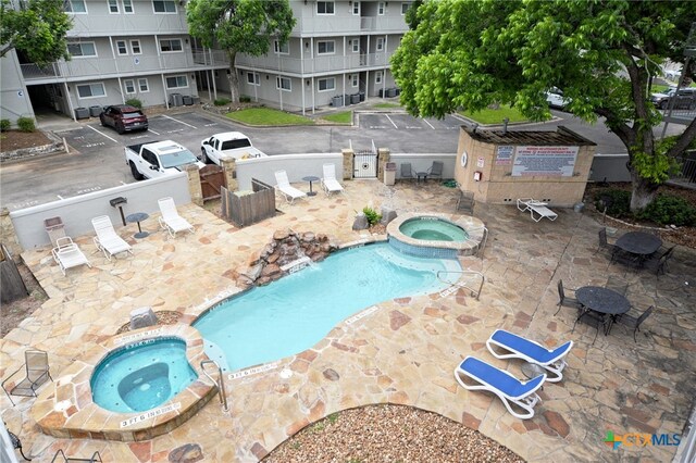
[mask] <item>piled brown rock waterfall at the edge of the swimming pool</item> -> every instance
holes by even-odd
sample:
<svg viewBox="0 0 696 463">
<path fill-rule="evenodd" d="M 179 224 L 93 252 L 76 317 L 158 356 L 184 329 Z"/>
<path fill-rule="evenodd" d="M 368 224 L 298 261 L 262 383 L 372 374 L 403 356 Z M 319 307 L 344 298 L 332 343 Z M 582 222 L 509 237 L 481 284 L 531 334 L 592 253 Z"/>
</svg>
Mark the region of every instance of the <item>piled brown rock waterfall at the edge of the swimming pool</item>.
<svg viewBox="0 0 696 463">
<path fill-rule="evenodd" d="M 277 230 L 258 256 L 237 277 L 240 287 L 268 285 L 311 262 L 319 262 L 338 249 L 326 235 L 312 232 Z"/>
</svg>

